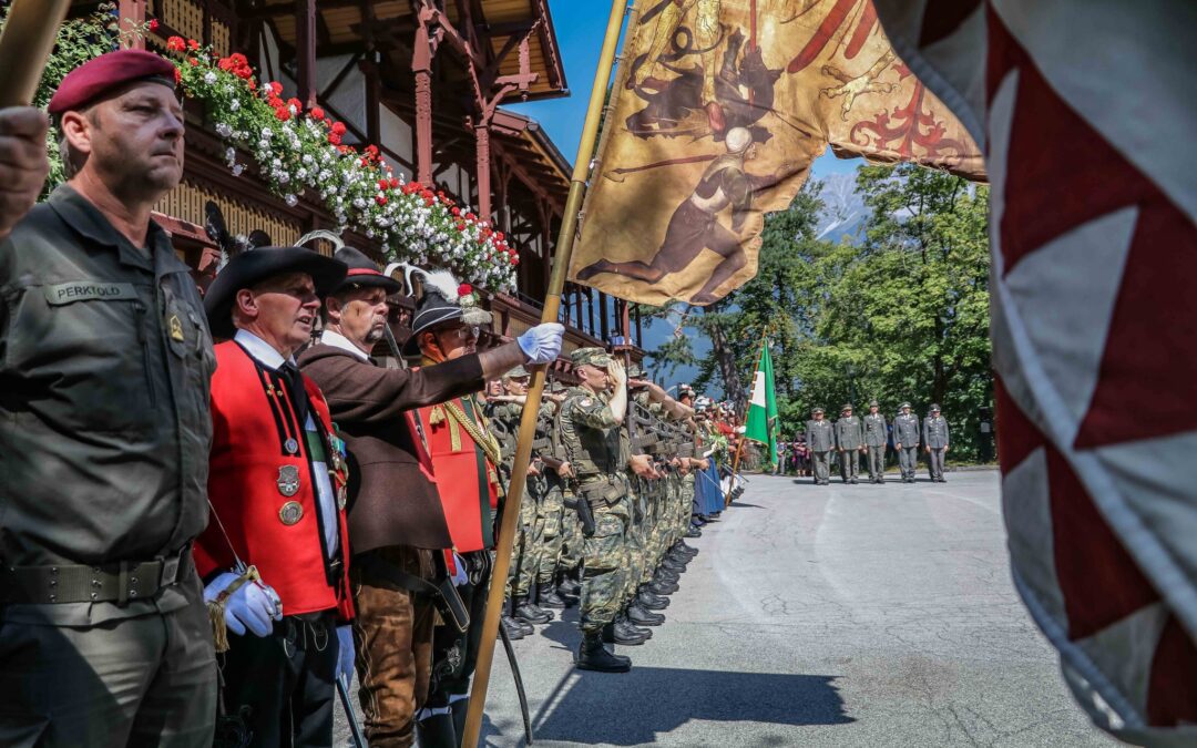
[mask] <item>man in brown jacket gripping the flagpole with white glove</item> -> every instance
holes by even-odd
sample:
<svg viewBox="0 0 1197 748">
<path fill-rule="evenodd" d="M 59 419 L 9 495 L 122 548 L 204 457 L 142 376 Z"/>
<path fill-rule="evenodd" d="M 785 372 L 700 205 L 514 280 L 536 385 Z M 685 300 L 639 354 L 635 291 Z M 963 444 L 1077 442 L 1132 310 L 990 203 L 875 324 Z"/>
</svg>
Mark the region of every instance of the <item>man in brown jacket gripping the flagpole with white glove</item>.
<svg viewBox="0 0 1197 748">
<path fill-rule="evenodd" d="M 384 334 L 387 290 L 395 285 L 383 282 L 378 267 L 352 248 L 336 256 L 351 274 L 326 300 L 326 332 L 299 363 L 328 397 L 348 446 L 354 639 L 366 737 L 371 747 L 411 746 L 429 692 L 436 619 L 421 592 L 438 579 L 433 553 L 452 547 L 429 458 L 429 424 L 414 409 L 481 391 L 487 379 L 519 364 L 555 360 L 564 328 L 541 324 L 518 342 L 418 371 L 387 369 L 371 361 L 370 352 Z M 421 300 L 403 348 L 409 358 L 419 355 L 421 333 L 458 341 L 479 334 L 461 321 L 457 282 L 445 282 L 442 273 L 425 276 L 424 298 L 439 296 L 456 311 Z"/>
</svg>

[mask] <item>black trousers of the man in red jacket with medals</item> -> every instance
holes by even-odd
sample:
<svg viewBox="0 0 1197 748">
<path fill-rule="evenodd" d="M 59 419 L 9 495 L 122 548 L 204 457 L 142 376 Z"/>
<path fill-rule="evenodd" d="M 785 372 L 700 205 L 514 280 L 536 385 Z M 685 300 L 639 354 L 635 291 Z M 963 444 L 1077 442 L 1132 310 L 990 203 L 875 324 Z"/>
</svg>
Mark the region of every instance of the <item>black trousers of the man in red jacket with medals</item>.
<svg viewBox="0 0 1197 748">
<path fill-rule="evenodd" d="M 332 746 L 336 703 L 336 615 L 287 615 L 268 637 L 229 633 L 224 705 L 248 706 L 251 746 Z"/>
</svg>

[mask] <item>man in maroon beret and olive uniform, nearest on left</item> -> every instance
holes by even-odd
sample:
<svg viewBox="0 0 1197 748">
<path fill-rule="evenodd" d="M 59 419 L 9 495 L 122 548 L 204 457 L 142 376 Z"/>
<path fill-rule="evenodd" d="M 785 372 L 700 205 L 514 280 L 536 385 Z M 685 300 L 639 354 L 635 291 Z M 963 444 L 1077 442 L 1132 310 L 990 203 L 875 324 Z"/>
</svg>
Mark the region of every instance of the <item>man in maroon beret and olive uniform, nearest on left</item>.
<svg viewBox="0 0 1197 748">
<path fill-rule="evenodd" d="M 214 367 L 195 284 L 151 208 L 183 172 L 175 69 L 73 71 L 44 118 L 0 110 L 0 744 L 211 746 Z"/>
</svg>

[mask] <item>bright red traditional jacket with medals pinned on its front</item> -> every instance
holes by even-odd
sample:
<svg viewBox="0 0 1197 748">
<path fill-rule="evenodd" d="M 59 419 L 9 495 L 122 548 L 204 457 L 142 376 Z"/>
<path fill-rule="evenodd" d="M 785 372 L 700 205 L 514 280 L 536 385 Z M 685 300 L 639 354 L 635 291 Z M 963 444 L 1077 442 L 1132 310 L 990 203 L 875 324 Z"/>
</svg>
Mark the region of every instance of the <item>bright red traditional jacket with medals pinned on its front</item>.
<svg viewBox="0 0 1197 748">
<path fill-rule="evenodd" d="M 196 570 L 207 578 L 232 568 L 236 551 L 279 594 L 285 615 L 336 608 L 347 621 L 353 618 L 344 503 L 347 475 L 344 460 L 334 457 L 340 446 L 328 403 L 320 388 L 303 377 L 338 493 L 340 549 L 333 559 L 324 548 L 308 436 L 286 381 L 233 341 L 215 346 L 215 354 L 208 475 L 213 511 L 195 541 Z"/>
</svg>

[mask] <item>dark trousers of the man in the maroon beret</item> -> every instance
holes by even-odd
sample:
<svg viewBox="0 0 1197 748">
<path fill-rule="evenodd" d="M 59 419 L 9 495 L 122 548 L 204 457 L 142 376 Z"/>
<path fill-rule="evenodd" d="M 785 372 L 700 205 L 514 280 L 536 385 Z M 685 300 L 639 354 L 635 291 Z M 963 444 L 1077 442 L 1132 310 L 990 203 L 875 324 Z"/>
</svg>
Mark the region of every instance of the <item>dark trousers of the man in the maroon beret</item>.
<svg viewBox="0 0 1197 748">
<path fill-rule="evenodd" d="M 93 626 L 0 620 L 0 746 L 212 746 L 217 669 L 195 572 L 190 604 Z"/>
</svg>

